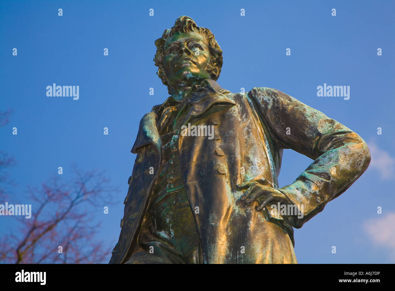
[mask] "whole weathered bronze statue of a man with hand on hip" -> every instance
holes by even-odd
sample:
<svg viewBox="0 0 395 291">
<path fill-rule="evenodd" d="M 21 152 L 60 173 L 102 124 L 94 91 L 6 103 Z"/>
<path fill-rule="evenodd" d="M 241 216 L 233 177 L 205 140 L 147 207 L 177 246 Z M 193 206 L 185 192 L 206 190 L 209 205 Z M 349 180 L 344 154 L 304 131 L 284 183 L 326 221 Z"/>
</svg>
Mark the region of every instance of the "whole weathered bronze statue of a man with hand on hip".
<svg viewBox="0 0 395 291">
<path fill-rule="evenodd" d="M 367 169 L 365 141 L 281 91 L 220 87 L 222 50 L 189 17 L 155 44 L 171 96 L 141 119 L 110 263 L 297 263 L 293 228 Z M 284 148 L 314 162 L 278 188 Z"/>
</svg>

